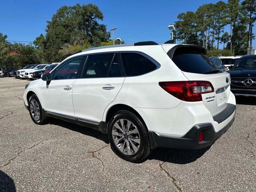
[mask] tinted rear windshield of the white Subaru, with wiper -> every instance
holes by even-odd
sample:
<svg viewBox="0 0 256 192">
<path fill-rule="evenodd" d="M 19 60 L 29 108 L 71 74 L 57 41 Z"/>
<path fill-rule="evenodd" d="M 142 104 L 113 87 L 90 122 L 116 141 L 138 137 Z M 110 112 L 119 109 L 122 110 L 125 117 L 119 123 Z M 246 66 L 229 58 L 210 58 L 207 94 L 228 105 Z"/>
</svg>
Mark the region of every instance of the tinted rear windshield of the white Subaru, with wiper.
<svg viewBox="0 0 256 192">
<path fill-rule="evenodd" d="M 206 72 L 218 68 L 200 48 L 181 47 L 175 50 L 172 61 L 184 72 L 205 74 Z M 218 73 L 221 71 L 214 71 Z"/>
</svg>

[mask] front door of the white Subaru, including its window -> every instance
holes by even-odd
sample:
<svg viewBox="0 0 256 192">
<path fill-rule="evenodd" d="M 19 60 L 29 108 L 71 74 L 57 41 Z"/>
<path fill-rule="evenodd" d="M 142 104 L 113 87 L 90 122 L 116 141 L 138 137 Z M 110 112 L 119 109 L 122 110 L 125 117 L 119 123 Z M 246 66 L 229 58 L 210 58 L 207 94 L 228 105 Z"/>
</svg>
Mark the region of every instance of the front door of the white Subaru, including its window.
<svg viewBox="0 0 256 192">
<path fill-rule="evenodd" d="M 74 118 L 74 108 L 72 104 L 72 88 L 78 77 L 80 77 L 85 62 L 84 56 L 71 58 L 58 66 L 50 75 L 51 82 L 42 84 L 42 100 L 44 110 L 62 116 Z M 73 73 L 66 73 L 69 66 L 80 66 Z"/>
</svg>

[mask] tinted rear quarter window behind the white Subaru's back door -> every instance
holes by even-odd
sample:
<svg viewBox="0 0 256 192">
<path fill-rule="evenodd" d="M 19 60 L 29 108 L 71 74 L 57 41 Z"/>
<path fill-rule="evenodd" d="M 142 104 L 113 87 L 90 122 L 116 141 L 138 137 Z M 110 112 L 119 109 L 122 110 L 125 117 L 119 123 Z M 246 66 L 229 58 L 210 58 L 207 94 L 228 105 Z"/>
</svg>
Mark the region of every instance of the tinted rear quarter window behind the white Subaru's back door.
<svg viewBox="0 0 256 192">
<path fill-rule="evenodd" d="M 122 62 L 126 76 L 137 76 L 156 69 L 156 65 L 138 53 L 122 53 Z"/>
</svg>

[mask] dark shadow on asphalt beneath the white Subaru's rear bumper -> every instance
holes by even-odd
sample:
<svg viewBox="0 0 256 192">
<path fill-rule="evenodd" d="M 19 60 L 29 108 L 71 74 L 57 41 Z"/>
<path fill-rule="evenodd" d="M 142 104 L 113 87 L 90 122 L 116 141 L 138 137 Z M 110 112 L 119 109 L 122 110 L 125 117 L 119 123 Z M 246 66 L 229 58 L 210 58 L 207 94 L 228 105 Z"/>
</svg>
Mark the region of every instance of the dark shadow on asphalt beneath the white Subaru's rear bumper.
<svg viewBox="0 0 256 192">
<path fill-rule="evenodd" d="M 188 164 L 196 161 L 198 158 L 203 156 L 204 153 L 209 149 L 210 146 L 197 150 L 156 148 L 155 150 L 153 150 L 150 156 L 148 156 L 148 159 L 156 159 L 174 164 Z"/>
</svg>

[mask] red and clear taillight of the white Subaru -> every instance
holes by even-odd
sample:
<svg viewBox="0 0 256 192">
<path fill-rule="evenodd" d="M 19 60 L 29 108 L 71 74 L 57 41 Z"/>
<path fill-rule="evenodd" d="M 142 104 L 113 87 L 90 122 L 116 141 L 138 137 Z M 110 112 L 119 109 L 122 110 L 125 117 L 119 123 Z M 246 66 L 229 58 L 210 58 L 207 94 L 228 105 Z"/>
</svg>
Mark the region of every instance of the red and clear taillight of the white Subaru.
<svg viewBox="0 0 256 192">
<path fill-rule="evenodd" d="M 212 84 L 208 81 L 171 81 L 158 84 L 182 101 L 202 101 L 201 94 L 214 92 Z"/>
</svg>

